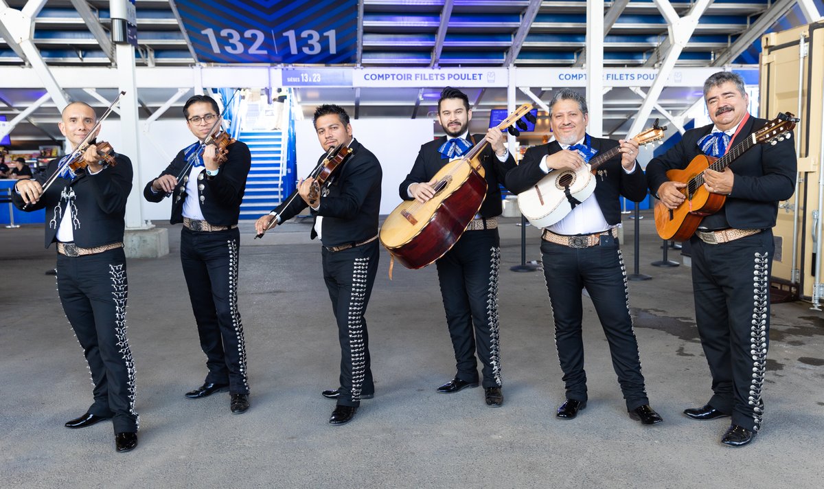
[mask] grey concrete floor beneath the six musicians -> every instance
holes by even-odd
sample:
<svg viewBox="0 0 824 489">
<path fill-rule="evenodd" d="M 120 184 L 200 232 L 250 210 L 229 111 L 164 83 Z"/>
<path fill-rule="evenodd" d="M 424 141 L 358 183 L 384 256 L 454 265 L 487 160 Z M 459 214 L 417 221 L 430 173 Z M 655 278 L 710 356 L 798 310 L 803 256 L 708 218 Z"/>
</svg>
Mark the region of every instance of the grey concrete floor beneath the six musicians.
<svg viewBox="0 0 824 489">
<path fill-rule="evenodd" d="M 634 221 L 625 219 L 625 260 Z M 129 341 L 137 368 L 140 444 L 115 453 L 109 423 L 67 430 L 91 403 L 82 350 L 60 308 L 54 251 L 43 229 L 0 228 L 0 485 L 2 487 L 822 487 L 824 315 L 808 303 L 775 304 L 761 434 L 719 444 L 728 420 L 681 414 L 710 395 L 692 311 L 689 269 L 661 259 L 649 215 L 640 221 L 641 272 L 631 282 L 647 391 L 664 417 L 627 416 L 606 340 L 585 299 L 589 403 L 555 418 L 564 389 L 541 272 L 514 273 L 520 228 L 503 219 L 500 323 L 504 406 L 480 388 L 445 396 L 454 359 L 433 267 L 395 267 L 389 256 L 369 304 L 377 395 L 355 420 L 326 421 L 339 347 L 320 249 L 307 223 L 263 240 L 241 225 L 240 311 L 252 406 L 229 412 L 228 395 L 183 397 L 205 376 L 204 355 L 180 270 L 171 255 L 129 261 Z M 161 224 L 162 225 L 162 224 Z M 527 260 L 538 234 L 527 228 Z M 672 258 L 680 259 L 676 252 Z M 816 482 L 818 481 L 818 482 Z"/>
</svg>

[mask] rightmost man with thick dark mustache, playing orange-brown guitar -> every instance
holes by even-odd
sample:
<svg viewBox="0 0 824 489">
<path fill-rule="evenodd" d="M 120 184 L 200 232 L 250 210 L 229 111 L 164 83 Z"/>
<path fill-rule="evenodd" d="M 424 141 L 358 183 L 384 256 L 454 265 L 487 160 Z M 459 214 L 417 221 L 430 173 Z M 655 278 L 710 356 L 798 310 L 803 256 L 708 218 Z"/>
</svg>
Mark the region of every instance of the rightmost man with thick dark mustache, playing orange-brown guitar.
<svg viewBox="0 0 824 489">
<path fill-rule="evenodd" d="M 681 141 L 647 167 L 649 189 L 669 209 L 686 199 L 682 190 L 686 184 L 668 181 L 667 170 L 686 168 L 700 154 L 720 157 L 766 123 L 748 113 L 744 81 L 735 73 L 707 78 L 704 100 L 713 124 L 686 131 Z M 775 146 L 758 144 L 723 172 L 704 172 L 706 190 L 727 196 L 690 240 L 695 322 L 713 379 L 713 396 L 684 414 L 698 421 L 732 416 L 721 437 L 728 446 L 750 443 L 761 429 L 775 252 L 772 227 L 779 200 L 793 195 L 795 177 L 792 139 Z"/>
</svg>

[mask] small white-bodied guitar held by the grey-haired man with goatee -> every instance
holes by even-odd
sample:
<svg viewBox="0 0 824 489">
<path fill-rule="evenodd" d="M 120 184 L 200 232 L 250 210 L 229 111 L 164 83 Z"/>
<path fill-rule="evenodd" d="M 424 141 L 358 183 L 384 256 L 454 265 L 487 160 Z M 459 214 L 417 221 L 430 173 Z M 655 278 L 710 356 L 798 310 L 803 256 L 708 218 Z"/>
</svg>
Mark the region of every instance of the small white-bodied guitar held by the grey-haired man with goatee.
<svg viewBox="0 0 824 489">
<path fill-rule="evenodd" d="M 658 120 L 633 139 L 639 144 L 662 139 L 667 126 L 658 127 Z M 578 170 L 555 170 L 546 174 L 531 188 L 517 195 L 518 209 L 536 228 L 546 228 L 569 214 L 595 191 L 598 167 L 620 154 L 620 146 L 599 153 Z"/>
</svg>

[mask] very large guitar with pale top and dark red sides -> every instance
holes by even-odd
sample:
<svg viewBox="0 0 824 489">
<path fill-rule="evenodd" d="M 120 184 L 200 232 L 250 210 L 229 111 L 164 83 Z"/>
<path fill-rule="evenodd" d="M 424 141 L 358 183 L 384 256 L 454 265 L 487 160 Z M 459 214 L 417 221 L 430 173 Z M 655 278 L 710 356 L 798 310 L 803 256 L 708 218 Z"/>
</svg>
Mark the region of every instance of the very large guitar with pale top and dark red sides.
<svg viewBox="0 0 824 489">
<path fill-rule="evenodd" d="M 497 129 L 511 125 L 524 127 L 521 117 L 531 120 L 532 104 L 524 104 L 510 114 Z M 534 122 L 534 120 L 532 120 Z M 517 132 L 509 129 L 510 134 Z M 486 196 L 484 167 L 480 153 L 484 139 L 461 159 L 444 165 L 433 177 L 435 195 L 421 204 L 405 200 L 386 217 L 381 228 L 381 243 L 393 258 L 411 269 L 423 268 L 438 260 L 469 226 Z"/>
</svg>

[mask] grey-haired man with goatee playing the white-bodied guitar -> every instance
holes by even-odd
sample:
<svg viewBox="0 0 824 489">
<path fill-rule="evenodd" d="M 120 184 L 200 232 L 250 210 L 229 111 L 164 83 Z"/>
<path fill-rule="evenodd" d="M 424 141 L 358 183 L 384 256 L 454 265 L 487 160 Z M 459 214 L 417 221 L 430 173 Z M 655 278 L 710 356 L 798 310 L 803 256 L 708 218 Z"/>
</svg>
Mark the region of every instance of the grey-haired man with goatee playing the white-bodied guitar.
<svg viewBox="0 0 824 489">
<path fill-rule="evenodd" d="M 573 419 L 587 406 L 581 300 L 582 289 L 586 288 L 609 342 L 612 367 L 630 417 L 644 425 L 660 423 L 663 420 L 649 407 L 644 390 L 638 341 L 630 317 L 630 290 L 616 230 L 620 196 L 639 202 L 647 195 L 647 180 L 635 161 L 638 143 L 587 134 L 587 101 L 569 88 L 555 93 L 550 110 L 555 141 L 529 148 L 523 162 L 507 174 L 507 186 L 513 192 L 531 188 L 549 172 L 577 170 L 597 153 L 620 146 L 620 156 L 599 167 L 594 193 L 574 204 L 564 219 L 545 228 L 541 235 L 555 346 L 566 385 L 566 400 L 555 416 Z"/>
</svg>

